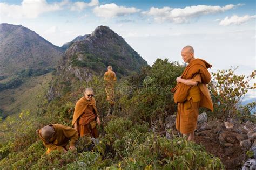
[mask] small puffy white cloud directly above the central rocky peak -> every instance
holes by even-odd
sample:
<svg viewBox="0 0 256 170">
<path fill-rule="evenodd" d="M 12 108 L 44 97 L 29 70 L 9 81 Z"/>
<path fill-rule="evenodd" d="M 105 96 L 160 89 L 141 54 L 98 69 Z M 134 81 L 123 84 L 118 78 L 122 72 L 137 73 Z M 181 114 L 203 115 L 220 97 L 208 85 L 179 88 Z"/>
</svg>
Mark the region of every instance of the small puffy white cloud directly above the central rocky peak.
<svg viewBox="0 0 256 170">
<path fill-rule="evenodd" d="M 112 18 L 116 16 L 124 16 L 131 13 L 137 13 L 140 9 L 134 7 L 126 8 L 125 6 L 118 6 L 114 3 L 96 6 L 93 12 L 98 17 Z"/>
</svg>

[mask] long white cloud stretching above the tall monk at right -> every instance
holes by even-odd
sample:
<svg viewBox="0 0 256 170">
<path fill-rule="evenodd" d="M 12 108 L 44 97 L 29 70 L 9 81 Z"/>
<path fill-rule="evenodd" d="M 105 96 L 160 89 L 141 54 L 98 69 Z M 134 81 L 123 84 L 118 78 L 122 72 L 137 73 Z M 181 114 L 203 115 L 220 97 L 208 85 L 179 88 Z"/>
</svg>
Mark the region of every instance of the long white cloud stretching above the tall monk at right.
<svg viewBox="0 0 256 170">
<path fill-rule="evenodd" d="M 220 13 L 230 9 L 234 9 L 237 6 L 242 6 L 244 4 L 237 5 L 225 5 L 225 6 L 211 6 L 211 5 L 197 5 L 197 6 L 186 6 L 185 8 L 170 8 L 165 6 L 164 8 L 154 8 L 152 7 L 149 11 L 142 12 L 144 15 L 153 16 L 154 20 L 157 22 L 174 22 L 174 23 L 186 23 L 190 19 L 213 14 Z"/>
</svg>

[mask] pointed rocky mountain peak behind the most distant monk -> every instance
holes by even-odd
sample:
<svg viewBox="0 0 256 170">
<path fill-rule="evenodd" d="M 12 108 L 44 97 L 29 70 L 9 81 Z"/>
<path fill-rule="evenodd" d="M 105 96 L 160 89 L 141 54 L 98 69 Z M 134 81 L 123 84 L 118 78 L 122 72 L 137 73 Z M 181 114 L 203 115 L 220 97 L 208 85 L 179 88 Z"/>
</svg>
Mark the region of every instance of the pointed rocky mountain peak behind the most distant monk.
<svg viewBox="0 0 256 170">
<path fill-rule="evenodd" d="M 89 35 L 79 36 L 69 42 L 58 73 L 71 73 L 80 81 L 91 74 L 102 74 L 111 65 L 118 77 L 139 72 L 147 62 L 125 40 L 107 26 L 98 26 Z"/>
</svg>

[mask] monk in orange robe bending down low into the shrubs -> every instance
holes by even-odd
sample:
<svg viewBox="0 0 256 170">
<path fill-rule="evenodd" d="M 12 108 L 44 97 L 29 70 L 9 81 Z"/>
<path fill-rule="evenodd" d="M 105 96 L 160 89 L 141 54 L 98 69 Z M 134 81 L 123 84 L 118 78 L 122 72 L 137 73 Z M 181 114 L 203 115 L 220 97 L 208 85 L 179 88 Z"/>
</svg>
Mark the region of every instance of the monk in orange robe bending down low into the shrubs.
<svg viewBox="0 0 256 170">
<path fill-rule="evenodd" d="M 47 148 L 46 154 L 53 150 L 67 152 L 67 145 L 70 140 L 69 150 L 76 150 L 75 144 L 78 140 L 77 130 L 61 124 L 50 124 L 39 131 L 39 137 Z"/>
</svg>

